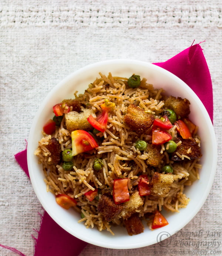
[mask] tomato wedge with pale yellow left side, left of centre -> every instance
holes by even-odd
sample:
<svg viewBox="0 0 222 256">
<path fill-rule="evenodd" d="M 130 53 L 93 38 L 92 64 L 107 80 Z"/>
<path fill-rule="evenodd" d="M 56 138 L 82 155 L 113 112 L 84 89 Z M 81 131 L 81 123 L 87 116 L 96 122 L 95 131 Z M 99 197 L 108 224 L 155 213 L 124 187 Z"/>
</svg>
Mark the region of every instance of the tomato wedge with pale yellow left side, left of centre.
<svg viewBox="0 0 222 256">
<path fill-rule="evenodd" d="M 72 156 L 95 149 L 98 147 L 94 137 L 84 130 L 75 130 L 71 133 Z"/>
</svg>

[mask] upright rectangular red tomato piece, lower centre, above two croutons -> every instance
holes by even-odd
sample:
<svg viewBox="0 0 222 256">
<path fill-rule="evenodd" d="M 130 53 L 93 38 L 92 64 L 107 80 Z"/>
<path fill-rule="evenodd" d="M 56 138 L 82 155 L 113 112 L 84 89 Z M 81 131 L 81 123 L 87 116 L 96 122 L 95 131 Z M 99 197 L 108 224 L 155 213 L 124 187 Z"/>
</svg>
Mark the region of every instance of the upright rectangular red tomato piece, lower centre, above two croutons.
<svg viewBox="0 0 222 256">
<path fill-rule="evenodd" d="M 116 205 L 129 201 L 128 178 L 114 180 L 113 199 Z"/>
</svg>

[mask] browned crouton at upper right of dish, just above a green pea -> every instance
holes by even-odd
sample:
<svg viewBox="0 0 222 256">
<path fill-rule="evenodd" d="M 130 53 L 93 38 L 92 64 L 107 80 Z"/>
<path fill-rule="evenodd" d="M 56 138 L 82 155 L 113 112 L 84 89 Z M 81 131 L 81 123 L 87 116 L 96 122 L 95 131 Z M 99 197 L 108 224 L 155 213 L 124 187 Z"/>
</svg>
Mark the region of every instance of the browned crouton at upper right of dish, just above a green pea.
<svg viewBox="0 0 222 256">
<path fill-rule="evenodd" d="M 178 118 L 187 117 L 190 113 L 189 105 L 191 103 L 187 99 L 182 99 L 181 97 L 170 96 L 165 101 L 165 107 L 173 110 Z"/>
</svg>

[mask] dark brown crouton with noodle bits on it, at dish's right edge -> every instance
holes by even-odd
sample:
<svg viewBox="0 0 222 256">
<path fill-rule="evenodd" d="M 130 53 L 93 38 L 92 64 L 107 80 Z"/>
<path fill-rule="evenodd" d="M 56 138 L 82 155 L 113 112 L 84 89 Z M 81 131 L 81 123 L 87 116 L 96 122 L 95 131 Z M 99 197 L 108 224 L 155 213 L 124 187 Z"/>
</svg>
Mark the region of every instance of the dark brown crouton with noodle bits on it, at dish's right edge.
<svg viewBox="0 0 222 256">
<path fill-rule="evenodd" d="M 182 138 L 176 138 L 174 140 L 175 143 L 178 143 L 181 140 L 181 144 L 176 147 L 176 150 L 174 153 L 172 153 L 171 160 L 173 161 L 181 161 L 181 157 L 179 155 L 185 155 L 188 156 L 189 159 L 198 159 L 202 157 L 201 148 L 199 147 L 198 143 L 196 143 L 194 138 L 190 139 L 182 139 Z M 176 154 L 179 153 L 178 154 Z M 184 160 L 187 160 L 186 157 L 184 157 Z"/>
</svg>

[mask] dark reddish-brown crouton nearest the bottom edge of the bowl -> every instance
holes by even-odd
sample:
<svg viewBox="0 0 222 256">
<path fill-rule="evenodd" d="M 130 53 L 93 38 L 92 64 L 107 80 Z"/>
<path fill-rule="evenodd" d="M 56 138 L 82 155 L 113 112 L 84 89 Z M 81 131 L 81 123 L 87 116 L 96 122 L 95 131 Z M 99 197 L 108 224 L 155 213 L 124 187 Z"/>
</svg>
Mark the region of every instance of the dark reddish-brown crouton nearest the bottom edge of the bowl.
<svg viewBox="0 0 222 256">
<path fill-rule="evenodd" d="M 124 225 L 130 236 L 144 232 L 144 225 L 142 224 L 142 220 L 139 218 L 138 213 L 134 213 L 129 219 L 124 220 Z"/>
</svg>

